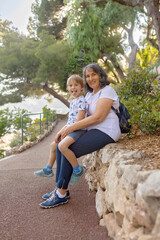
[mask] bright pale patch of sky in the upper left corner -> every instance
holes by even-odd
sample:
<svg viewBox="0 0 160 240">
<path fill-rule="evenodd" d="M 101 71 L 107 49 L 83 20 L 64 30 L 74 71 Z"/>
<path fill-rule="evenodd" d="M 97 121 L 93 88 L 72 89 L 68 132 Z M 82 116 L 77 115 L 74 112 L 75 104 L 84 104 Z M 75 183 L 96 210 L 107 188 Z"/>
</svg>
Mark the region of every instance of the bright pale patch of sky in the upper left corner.
<svg viewBox="0 0 160 240">
<path fill-rule="evenodd" d="M 0 18 L 9 20 L 20 33 L 28 34 L 28 19 L 32 16 L 31 5 L 35 0 L 0 0 Z"/>
</svg>

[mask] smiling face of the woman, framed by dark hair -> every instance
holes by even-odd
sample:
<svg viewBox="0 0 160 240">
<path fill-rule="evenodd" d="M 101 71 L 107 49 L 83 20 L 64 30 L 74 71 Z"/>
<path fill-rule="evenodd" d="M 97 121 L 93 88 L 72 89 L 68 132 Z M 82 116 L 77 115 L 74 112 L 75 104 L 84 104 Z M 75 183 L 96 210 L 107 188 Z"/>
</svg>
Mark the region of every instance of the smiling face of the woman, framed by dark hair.
<svg viewBox="0 0 160 240">
<path fill-rule="evenodd" d="M 86 70 L 86 81 L 90 88 L 94 90 L 94 92 L 98 92 L 100 90 L 99 86 L 99 74 L 96 73 L 93 69 L 89 68 Z"/>
</svg>

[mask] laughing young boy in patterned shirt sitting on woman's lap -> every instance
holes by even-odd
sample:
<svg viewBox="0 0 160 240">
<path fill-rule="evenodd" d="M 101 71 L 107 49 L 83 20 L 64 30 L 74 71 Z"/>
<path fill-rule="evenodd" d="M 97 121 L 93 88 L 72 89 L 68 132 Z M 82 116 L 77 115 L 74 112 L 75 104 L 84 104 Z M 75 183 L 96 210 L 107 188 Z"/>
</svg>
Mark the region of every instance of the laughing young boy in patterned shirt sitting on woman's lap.
<svg viewBox="0 0 160 240">
<path fill-rule="evenodd" d="M 67 90 L 69 91 L 71 96 L 74 98 L 74 100 L 70 103 L 70 110 L 69 110 L 67 124 L 57 133 L 55 137 L 55 141 L 51 143 L 50 155 L 49 155 L 47 165 L 40 171 L 34 172 L 35 176 L 39 176 L 39 177 L 53 176 L 52 167 L 56 160 L 56 145 L 57 145 L 57 142 L 59 141 L 62 130 L 66 126 L 71 125 L 76 121 L 80 121 L 81 119 L 87 116 L 88 105 L 85 101 L 84 96 L 82 95 L 83 87 L 84 87 L 83 79 L 79 75 L 72 75 L 68 78 Z M 67 158 L 67 160 L 72 165 L 73 174 L 77 176 L 83 175 L 83 172 L 85 172 L 85 167 L 79 166 L 77 158 L 75 154 L 69 149 L 69 146 L 73 144 L 85 132 L 86 130 L 75 131 L 69 134 L 68 136 L 66 136 L 63 140 L 61 140 L 58 145 L 59 150 L 63 153 L 63 155 Z"/>
</svg>

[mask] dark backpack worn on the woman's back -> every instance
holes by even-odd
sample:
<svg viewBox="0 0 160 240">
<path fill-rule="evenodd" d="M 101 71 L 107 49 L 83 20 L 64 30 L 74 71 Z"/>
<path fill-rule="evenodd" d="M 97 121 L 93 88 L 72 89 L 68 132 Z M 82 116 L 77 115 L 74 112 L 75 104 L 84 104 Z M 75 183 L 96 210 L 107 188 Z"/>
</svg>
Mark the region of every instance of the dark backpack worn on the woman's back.
<svg viewBox="0 0 160 240">
<path fill-rule="evenodd" d="M 115 111 L 119 118 L 119 126 L 121 129 L 121 133 L 128 133 L 131 129 L 131 125 L 128 122 L 128 119 L 130 119 L 130 114 L 127 108 L 121 102 L 119 102 L 119 111 L 115 109 L 113 106 L 111 108 Z"/>
</svg>

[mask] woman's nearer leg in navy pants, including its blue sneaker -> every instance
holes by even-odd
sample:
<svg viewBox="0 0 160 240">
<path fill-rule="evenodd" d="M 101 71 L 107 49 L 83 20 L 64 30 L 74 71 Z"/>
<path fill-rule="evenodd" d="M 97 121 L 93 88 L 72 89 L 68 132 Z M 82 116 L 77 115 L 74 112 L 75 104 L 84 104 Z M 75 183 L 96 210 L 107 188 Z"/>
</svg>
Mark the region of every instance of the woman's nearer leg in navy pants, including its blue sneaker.
<svg viewBox="0 0 160 240">
<path fill-rule="evenodd" d="M 93 141 L 95 139 L 95 141 Z M 71 145 L 71 150 L 77 157 L 94 152 L 109 143 L 113 143 L 114 140 L 99 130 L 90 130 L 82 137 L 80 137 L 74 144 Z M 64 155 L 56 148 L 57 154 L 57 190 L 51 195 L 49 199 L 41 203 L 43 208 L 55 207 L 60 204 L 68 202 L 68 196 L 66 190 L 72 175 L 72 165 L 64 157 Z"/>
</svg>

